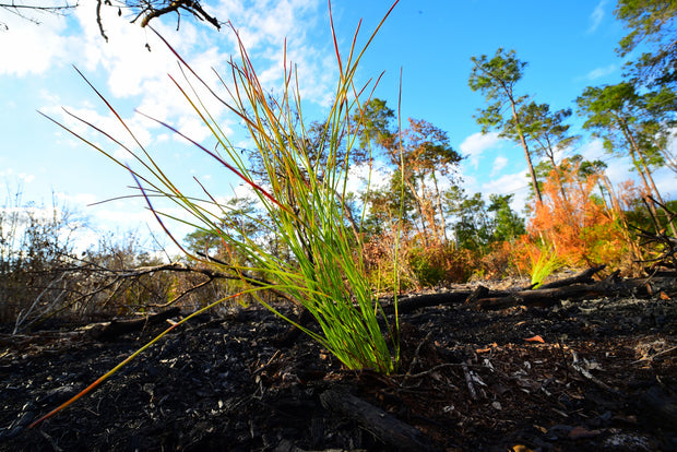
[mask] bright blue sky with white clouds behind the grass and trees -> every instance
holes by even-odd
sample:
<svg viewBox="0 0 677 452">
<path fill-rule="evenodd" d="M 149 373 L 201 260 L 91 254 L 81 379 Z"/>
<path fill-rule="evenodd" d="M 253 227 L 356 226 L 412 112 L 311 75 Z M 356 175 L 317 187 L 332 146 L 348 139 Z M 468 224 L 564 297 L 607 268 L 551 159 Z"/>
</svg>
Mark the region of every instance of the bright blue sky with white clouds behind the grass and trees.
<svg viewBox="0 0 677 452">
<path fill-rule="evenodd" d="M 306 114 L 321 118 L 335 80 L 324 0 L 204 0 L 203 4 L 235 24 L 259 74 L 273 91 L 282 76 L 286 37 L 288 58 L 299 68 Z M 343 49 L 360 17 L 361 36 L 366 37 L 390 4 L 390 0 L 334 0 L 334 24 Z M 468 193 L 513 193 L 514 205 L 521 209 L 528 192 L 523 151 L 495 134 L 480 133 L 473 115 L 484 104 L 480 94 L 467 86 L 471 57 L 491 56 L 499 47 L 514 49 L 528 62 L 518 92 L 548 103 L 553 109 L 573 108 L 586 86 L 620 81 L 623 61 L 615 48 L 626 32 L 613 15 L 615 5 L 610 0 L 402 0 L 366 53 L 358 76 L 366 81 L 385 71 L 376 96 L 396 108 L 402 69 L 403 119 L 425 119 L 449 133 L 453 147 L 468 156 L 462 166 Z M 108 43 L 98 35 L 92 0 L 83 1 L 67 17 L 40 15 L 40 25 L 0 11 L 0 23 L 8 26 L 0 32 L 2 194 L 22 187 L 24 201 L 49 205 L 55 193 L 60 204 L 90 218 L 90 240 L 106 230 L 136 228 L 145 234 L 146 224 L 155 230 L 157 226 L 140 200 L 90 205 L 130 194 L 128 187 L 133 181 L 123 168 L 36 112 L 68 122 L 61 112 L 66 107 L 108 130 L 119 130 L 72 66 L 130 120 L 142 142 L 162 157 L 178 180 L 191 183 L 195 176 L 224 197 L 236 183 L 199 150 L 134 114 L 139 108 L 210 144 L 204 128 L 167 78 L 167 73 L 178 73 L 176 59 L 152 33 L 129 24 L 129 17 L 118 17 L 117 9 L 104 12 Z M 155 26 L 207 79 L 213 80 L 212 67 L 225 72 L 235 51 L 227 28 L 216 32 L 183 17 L 177 33 L 175 17 L 169 16 Z M 234 141 L 245 143 L 234 118 L 214 108 Z M 570 152 L 606 160 L 615 182 L 630 177 L 629 163 L 605 155 L 601 143 L 581 131 L 581 123 L 579 118 L 572 120 L 574 131 L 584 139 Z M 658 171 L 656 181 L 675 198 L 674 174 Z M 181 237 L 187 231 L 178 228 L 176 234 Z"/>
</svg>

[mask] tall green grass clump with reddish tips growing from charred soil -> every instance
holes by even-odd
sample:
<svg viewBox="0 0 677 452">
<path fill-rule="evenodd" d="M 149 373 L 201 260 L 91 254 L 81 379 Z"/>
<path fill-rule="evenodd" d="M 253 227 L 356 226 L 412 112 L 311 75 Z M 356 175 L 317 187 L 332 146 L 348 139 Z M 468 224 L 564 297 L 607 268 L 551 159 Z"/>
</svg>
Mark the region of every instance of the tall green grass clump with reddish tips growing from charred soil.
<svg viewBox="0 0 677 452">
<path fill-rule="evenodd" d="M 368 102 L 368 99 L 360 100 L 360 95 L 367 86 L 356 86 L 354 76 L 358 62 L 383 21 L 361 50 L 356 48 L 356 32 L 346 57 L 342 57 L 339 51 L 332 22 L 339 67 L 337 85 L 334 103 L 326 121 L 321 127 L 322 140 L 314 143 L 301 115 L 298 79 L 296 71 L 286 61 L 286 50 L 283 94 L 280 98 L 273 99 L 261 86 L 247 50 L 239 40 L 237 32 L 231 27 L 238 37 L 240 60 L 239 62 L 230 61 L 229 82 L 231 84 L 228 87 L 226 83 L 223 83 L 223 88 L 227 94 L 227 100 L 224 100 L 167 44 L 179 59 L 185 75 L 183 83 L 177 82 L 174 78 L 171 80 L 179 95 L 186 98 L 204 126 L 211 130 L 213 138 L 218 142 L 219 152 L 210 151 L 171 126 L 157 122 L 192 142 L 213 157 L 218 165 L 226 167 L 252 188 L 264 215 L 262 217 L 252 215 L 248 217 L 248 223 L 253 222 L 259 227 L 259 234 L 263 231 L 263 234 L 275 235 L 288 251 L 284 255 L 261 245 L 261 240 L 252 237 L 250 230 L 240 226 L 244 224 L 239 221 L 241 217 L 238 217 L 241 212 L 234 212 L 227 205 L 217 202 L 216 198 L 200 182 L 198 182 L 200 190 L 204 194 L 202 198 L 185 194 L 163 173 L 161 162 L 154 159 L 151 153 L 141 145 L 124 120 L 94 86 L 92 88 L 134 139 L 139 150 L 129 148 L 84 119 L 76 119 L 103 133 L 134 157 L 134 165 L 138 168 L 130 166 L 127 168 L 134 177 L 149 207 L 170 237 L 173 236 L 165 226 L 168 218 L 218 236 L 231 255 L 229 262 L 222 260 L 215 262 L 190 253 L 173 238 L 190 258 L 203 260 L 219 266 L 219 270 L 237 274 L 249 286 L 242 293 L 253 294 L 259 302 L 290 323 L 294 322 L 260 296 L 261 290 L 274 290 L 308 310 L 317 321 L 319 332 L 301 325 L 297 326 L 329 349 L 347 368 L 373 369 L 378 372 L 390 373 L 396 370 L 400 359 L 396 316 L 394 324 L 389 324 L 372 294 L 365 275 L 364 243 L 355 225 L 346 221 L 349 215 L 344 202 L 352 162 L 351 152 L 357 143 L 358 131 L 364 126 L 361 106 Z M 215 118 L 206 109 L 207 103 L 201 98 L 193 84 L 207 87 L 209 93 L 216 100 L 223 103 L 246 124 L 250 141 L 256 146 L 253 158 L 259 163 L 258 170 L 251 169 L 251 162 L 242 156 L 239 147 L 230 143 Z M 358 118 L 357 121 L 355 117 Z M 117 164 L 126 166 L 111 152 L 93 144 L 72 130 L 69 131 Z M 185 214 L 179 218 L 178 215 L 171 216 L 155 210 L 151 199 L 157 197 L 175 203 Z M 363 212 L 363 218 L 364 214 Z M 234 296 L 217 300 L 183 321 L 231 297 Z M 164 334 L 166 332 L 162 335 Z M 152 343 L 158 338 L 159 336 Z M 146 344 L 81 394 L 44 418 L 90 392 L 152 343 Z"/>
</svg>

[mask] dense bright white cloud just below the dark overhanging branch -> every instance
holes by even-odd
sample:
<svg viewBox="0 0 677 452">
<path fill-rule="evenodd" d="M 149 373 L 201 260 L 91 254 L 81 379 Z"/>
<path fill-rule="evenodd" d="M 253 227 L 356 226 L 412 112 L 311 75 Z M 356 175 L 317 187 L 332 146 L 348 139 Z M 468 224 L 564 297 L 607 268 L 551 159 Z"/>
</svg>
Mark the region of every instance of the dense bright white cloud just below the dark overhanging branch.
<svg viewBox="0 0 677 452">
<path fill-rule="evenodd" d="M 103 23 L 109 38 L 106 43 L 99 34 L 98 25 L 92 20 L 91 9 L 83 5 L 76 11 L 83 29 L 83 43 L 79 49 L 81 57 L 76 64 L 83 67 L 85 76 L 103 73 L 114 98 L 133 98 L 134 106 L 153 118 L 176 124 L 188 121 L 189 117 L 195 117 L 190 104 L 168 76 L 173 74 L 191 94 L 190 85 L 178 69 L 177 58 L 150 29 L 129 24 L 128 17 L 118 17 L 117 9 L 103 8 Z M 215 75 L 211 68 L 225 68 L 228 60 L 227 49 L 218 49 L 214 37 L 205 37 L 190 22 L 181 23 L 178 33 L 159 22 L 155 23 L 154 27 L 179 55 L 186 57 L 205 82 L 214 84 Z M 151 51 L 145 47 L 146 43 Z M 206 108 L 218 118 L 223 105 L 205 95 L 200 83 L 193 81 L 193 86 L 205 102 Z M 98 88 L 100 90 L 100 86 Z M 201 131 L 197 139 L 203 136 L 204 132 Z"/>
</svg>

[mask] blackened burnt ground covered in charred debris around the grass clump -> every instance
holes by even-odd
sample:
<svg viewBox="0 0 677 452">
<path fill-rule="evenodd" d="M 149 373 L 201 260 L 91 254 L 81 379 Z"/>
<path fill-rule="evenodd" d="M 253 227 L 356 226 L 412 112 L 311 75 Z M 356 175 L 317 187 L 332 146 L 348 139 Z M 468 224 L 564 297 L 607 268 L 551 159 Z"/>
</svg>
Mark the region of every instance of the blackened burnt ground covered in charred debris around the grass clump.
<svg viewBox="0 0 677 452">
<path fill-rule="evenodd" d="M 288 326 L 264 309 L 203 316 L 32 429 L 164 326 L 108 342 L 2 335 L 0 450 L 677 450 L 677 284 L 400 320 L 401 370 L 380 376 L 345 370 L 305 336 L 281 344 Z M 328 394 L 418 436 L 383 432 Z"/>
</svg>

